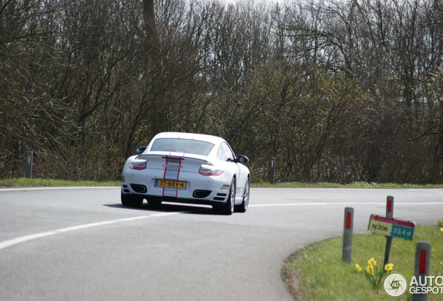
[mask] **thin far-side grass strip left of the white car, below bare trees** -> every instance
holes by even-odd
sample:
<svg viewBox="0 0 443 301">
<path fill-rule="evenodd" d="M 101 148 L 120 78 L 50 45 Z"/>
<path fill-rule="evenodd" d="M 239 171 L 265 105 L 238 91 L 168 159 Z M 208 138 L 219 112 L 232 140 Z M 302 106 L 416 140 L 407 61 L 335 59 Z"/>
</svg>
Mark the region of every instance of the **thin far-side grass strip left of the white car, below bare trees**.
<svg viewBox="0 0 443 301">
<path fill-rule="evenodd" d="M 40 186 L 120 186 L 120 181 L 97 182 L 92 180 L 52 180 L 38 178 L 8 178 L 0 180 L 0 187 Z"/>
</svg>

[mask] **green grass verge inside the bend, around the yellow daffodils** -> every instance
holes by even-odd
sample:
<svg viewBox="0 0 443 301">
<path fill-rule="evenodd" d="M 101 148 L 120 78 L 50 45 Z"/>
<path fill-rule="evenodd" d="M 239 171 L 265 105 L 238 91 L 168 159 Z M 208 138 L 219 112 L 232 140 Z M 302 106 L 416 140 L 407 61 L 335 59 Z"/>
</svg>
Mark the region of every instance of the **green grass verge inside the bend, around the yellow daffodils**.
<svg viewBox="0 0 443 301">
<path fill-rule="evenodd" d="M 394 238 L 389 262 L 393 272 L 401 272 L 410 281 L 414 275 L 415 245 L 418 240 L 430 242 L 429 275 L 443 275 L 443 233 L 438 226 L 416 226 L 414 240 Z M 371 288 L 365 277 L 369 258 L 377 265 L 384 260 L 384 236 L 373 234 L 356 235 L 353 238 L 352 263 L 341 263 L 341 237 L 318 242 L 290 256 L 283 265 L 282 277 L 295 300 L 393 300 L 380 288 Z M 355 263 L 362 266 L 355 271 Z M 428 295 L 428 300 L 442 300 L 443 295 Z M 397 300 L 410 300 L 407 293 Z"/>
</svg>

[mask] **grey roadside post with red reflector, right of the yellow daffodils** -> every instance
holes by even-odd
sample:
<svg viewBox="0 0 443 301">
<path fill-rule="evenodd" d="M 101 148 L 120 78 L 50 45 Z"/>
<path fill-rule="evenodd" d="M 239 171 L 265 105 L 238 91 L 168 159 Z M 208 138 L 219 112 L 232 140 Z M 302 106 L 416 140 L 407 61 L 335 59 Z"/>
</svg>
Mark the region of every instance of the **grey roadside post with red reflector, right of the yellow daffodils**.
<svg viewBox="0 0 443 301">
<path fill-rule="evenodd" d="M 430 243 L 425 241 L 417 242 L 415 247 L 415 265 L 414 265 L 414 292 L 412 293 L 412 301 L 428 300 L 428 275 L 429 275 L 429 256 Z M 425 293 L 426 292 L 426 293 Z"/>
</svg>

